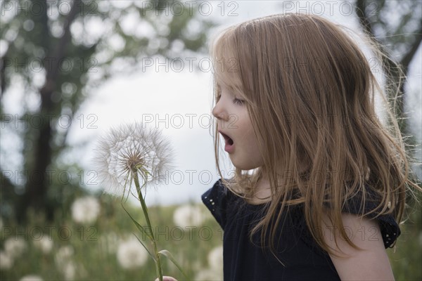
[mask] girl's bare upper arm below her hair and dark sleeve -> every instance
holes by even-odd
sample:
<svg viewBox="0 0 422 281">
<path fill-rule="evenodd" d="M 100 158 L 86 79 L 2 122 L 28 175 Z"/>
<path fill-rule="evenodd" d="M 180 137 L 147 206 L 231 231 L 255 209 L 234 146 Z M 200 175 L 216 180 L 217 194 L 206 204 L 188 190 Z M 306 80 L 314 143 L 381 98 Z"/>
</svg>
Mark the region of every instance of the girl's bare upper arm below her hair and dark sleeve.
<svg viewBox="0 0 422 281">
<path fill-rule="evenodd" d="M 341 280 L 394 280 L 378 220 L 343 213 L 342 221 L 356 248 L 324 221 L 324 241 L 333 249 L 330 257 Z"/>
</svg>

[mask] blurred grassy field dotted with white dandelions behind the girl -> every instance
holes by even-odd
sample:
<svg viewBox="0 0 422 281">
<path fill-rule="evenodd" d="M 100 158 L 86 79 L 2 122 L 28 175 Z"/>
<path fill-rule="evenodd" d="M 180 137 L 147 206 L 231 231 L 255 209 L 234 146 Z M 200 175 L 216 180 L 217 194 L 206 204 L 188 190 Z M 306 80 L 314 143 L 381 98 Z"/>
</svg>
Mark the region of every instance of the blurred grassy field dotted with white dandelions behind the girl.
<svg viewBox="0 0 422 281">
<path fill-rule="evenodd" d="M 155 265 L 134 234 L 145 237 L 120 201 L 107 195 L 89 200 L 63 209 L 60 220 L 51 224 L 37 216 L 25 227 L 1 220 L 0 279 L 155 280 Z M 140 208 L 125 206 L 142 225 Z M 172 252 L 187 278 L 169 261 L 164 262 L 165 275 L 222 280 L 222 230 L 203 204 L 151 207 L 150 215 L 158 248 Z M 422 280 L 420 215 L 413 214 L 402 226 L 396 248 L 388 249 L 397 280 Z"/>
</svg>

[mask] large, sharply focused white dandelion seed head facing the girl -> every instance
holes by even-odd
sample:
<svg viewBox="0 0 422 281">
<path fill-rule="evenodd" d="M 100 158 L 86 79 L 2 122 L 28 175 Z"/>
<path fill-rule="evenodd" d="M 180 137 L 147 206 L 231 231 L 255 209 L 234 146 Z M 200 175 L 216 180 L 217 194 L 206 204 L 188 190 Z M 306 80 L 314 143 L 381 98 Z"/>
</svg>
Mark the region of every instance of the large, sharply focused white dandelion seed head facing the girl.
<svg viewBox="0 0 422 281">
<path fill-rule="evenodd" d="M 133 179 L 142 186 L 156 186 L 172 168 L 172 148 L 161 131 L 141 123 L 110 129 L 98 141 L 94 162 L 106 192 L 124 196 L 136 194 Z"/>
</svg>

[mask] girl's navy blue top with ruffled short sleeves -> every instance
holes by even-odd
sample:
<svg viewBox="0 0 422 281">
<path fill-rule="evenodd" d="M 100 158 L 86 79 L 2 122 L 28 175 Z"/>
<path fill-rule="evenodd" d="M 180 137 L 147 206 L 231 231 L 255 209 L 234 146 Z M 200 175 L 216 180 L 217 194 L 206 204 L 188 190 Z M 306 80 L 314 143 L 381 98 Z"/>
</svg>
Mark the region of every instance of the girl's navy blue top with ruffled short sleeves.
<svg viewBox="0 0 422 281">
<path fill-rule="evenodd" d="M 309 234 L 300 205 L 290 207 L 281 219 L 283 231 L 278 231 L 279 240 L 274 242 L 275 257 L 269 249 L 261 247 L 260 233 L 250 241 L 250 230 L 264 216 L 265 204 L 247 204 L 221 180 L 202 195 L 202 200 L 224 230 L 225 281 L 340 280 L 328 253 Z M 347 212 L 359 213 L 356 204 L 352 202 L 350 206 Z M 378 221 L 384 245 L 389 247 L 400 234 L 399 226 L 392 216 L 380 216 Z"/>
</svg>

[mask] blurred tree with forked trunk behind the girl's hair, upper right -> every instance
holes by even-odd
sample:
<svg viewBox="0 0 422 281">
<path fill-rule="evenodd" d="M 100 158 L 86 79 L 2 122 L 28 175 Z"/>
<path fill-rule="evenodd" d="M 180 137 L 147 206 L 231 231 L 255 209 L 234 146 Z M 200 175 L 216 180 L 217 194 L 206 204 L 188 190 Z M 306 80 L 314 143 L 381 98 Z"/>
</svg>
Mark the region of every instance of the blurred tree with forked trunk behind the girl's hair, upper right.
<svg viewBox="0 0 422 281">
<path fill-rule="evenodd" d="M 409 135 L 407 118 L 404 116 L 404 98 L 406 97 L 405 82 L 400 79 L 407 76 L 409 65 L 418 51 L 422 41 L 422 1 L 404 0 L 357 0 L 357 15 L 360 25 L 371 37 L 376 39 L 378 46 L 392 56 L 385 60 L 385 66 L 399 85 L 399 95 L 390 93 L 390 100 L 395 100 L 395 115 L 399 120 L 400 130 Z M 400 73 L 395 62 L 402 67 Z M 403 77 L 404 76 L 404 77 Z"/>
</svg>

